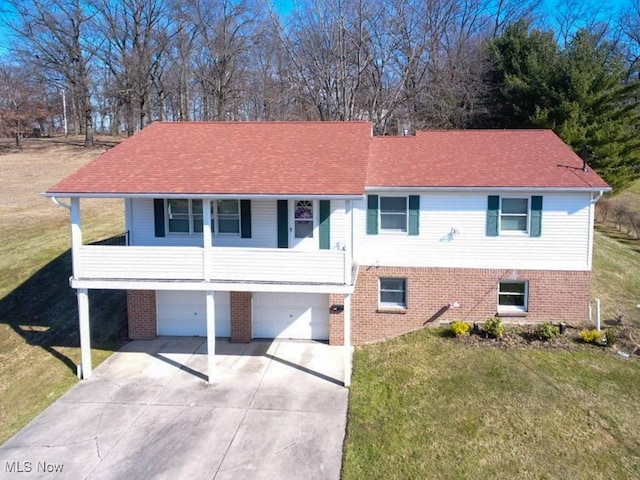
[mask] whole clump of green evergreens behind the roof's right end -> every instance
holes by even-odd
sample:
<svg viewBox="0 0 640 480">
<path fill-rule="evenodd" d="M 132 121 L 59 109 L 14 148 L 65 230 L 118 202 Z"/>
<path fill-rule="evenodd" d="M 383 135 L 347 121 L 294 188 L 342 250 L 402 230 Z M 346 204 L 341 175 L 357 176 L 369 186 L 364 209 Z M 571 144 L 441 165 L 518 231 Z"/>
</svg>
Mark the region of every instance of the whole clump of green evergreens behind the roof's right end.
<svg viewBox="0 0 640 480">
<path fill-rule="evenodd" d="M 488 44 L 493 128 L 551 128 L 620 191 L 640 178 L 640 82 L 614 44 L 587 30 L 560 49 L 520 22 Z"/>
</svg>

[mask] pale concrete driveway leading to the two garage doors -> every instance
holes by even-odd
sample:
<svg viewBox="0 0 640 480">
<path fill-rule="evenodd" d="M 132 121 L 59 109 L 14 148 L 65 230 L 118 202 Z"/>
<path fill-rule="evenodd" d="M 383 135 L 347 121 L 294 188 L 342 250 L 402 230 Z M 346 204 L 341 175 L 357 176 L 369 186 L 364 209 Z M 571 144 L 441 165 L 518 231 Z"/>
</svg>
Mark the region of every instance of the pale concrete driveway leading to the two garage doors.
<svg viewBox="0 0 640 480">
<path fill-rule="evenodd" d="M 219 340 L 212 385 L 205 354 L 200 338 L 127 344 L 0 447 L 0 478 L 340 477 L 341 347 Z"/>
</svg>

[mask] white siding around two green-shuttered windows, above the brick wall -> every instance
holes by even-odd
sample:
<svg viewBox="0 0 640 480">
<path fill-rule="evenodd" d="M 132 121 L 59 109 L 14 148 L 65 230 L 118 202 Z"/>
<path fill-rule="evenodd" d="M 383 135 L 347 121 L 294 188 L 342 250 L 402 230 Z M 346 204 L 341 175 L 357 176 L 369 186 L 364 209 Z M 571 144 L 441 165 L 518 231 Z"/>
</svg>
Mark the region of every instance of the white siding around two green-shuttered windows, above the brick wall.
<svg viewBox="0 0 640 480">
<path fill-rule="evenodd" d="M 375 192 L 371 192 L 374 193 Z M 489 194 L 492 194 L 490 192 Z M 407 195 L 416 192 L 407 191 Z M 541 237 L 487 237 L 487 192 L 434 192 L 420 198 L 420 234 L 366 235 L 366 200 L 355 203 L 354 259 L 360 265 L 588 270 L 589 193 L 542 195 Z"/>
</svg>

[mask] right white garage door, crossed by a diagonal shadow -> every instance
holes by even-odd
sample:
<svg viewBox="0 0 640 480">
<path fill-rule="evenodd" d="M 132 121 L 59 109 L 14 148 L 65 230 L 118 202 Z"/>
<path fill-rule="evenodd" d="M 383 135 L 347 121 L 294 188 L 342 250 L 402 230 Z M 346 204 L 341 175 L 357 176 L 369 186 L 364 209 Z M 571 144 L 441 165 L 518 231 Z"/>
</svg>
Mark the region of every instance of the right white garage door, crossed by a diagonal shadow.
<svg viewBox="0 0 640 480">
<path fill-rule="evenodd" d="M 254 338 L 329 339 L 329 296 L 254 293 Z"/>
</svg>

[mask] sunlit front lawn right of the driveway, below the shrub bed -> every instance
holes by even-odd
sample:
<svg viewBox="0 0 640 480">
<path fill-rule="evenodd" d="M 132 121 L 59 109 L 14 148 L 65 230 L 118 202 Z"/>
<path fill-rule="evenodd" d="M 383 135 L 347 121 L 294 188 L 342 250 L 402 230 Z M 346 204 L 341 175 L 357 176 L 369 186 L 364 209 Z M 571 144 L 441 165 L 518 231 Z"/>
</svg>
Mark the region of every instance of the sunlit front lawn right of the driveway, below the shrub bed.
<svg viewBox="0 0 640 480">
<path fill-rule="evenodd" d="M 344 479 L 640 477 L 638 360 L 438 333 L 356 351 Z"/>
</svg>

